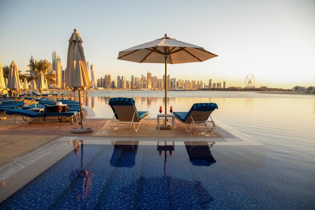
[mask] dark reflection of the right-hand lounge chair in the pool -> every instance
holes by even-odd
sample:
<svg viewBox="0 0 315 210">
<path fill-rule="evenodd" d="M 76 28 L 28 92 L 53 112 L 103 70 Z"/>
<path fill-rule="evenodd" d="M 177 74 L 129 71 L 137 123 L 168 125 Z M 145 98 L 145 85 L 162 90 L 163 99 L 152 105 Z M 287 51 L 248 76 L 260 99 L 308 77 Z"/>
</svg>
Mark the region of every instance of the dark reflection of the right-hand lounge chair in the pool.
<svg viewBox="0 0 315 210">
<path fill-rule="evenodd" d="M 185 147 L 189 156 L 189 161 L 194 166 L 211 166 L 216 162 L 211 154 L 210 147 L 215 142 L 190 142 L 186 141 Z"/>
</svg>

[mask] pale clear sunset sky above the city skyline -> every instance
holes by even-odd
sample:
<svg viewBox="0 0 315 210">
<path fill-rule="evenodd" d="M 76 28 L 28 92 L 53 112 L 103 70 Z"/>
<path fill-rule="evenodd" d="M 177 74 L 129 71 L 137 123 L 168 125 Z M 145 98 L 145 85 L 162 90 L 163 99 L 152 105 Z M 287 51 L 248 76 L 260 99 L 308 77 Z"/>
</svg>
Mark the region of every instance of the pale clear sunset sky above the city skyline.
<svg viewBox="0 0 315 210">
<path fill-rule="evenodd" d="M 315 0 L 37 1 L 0 0 L 0 62 L 14 60 L 25 72 L 31 54 L 52 62 L 55 50 L 66 68 L 74 28 L 96 78 L 127 80 L 147 71 L 162 78 L 164 64 L 117 60 L 135 45 L 171 38 L 202 46 L 218 57 L 168 65 L 170 77 L 226 81 L 245 86 L 315 86 Z"/>
</svg>

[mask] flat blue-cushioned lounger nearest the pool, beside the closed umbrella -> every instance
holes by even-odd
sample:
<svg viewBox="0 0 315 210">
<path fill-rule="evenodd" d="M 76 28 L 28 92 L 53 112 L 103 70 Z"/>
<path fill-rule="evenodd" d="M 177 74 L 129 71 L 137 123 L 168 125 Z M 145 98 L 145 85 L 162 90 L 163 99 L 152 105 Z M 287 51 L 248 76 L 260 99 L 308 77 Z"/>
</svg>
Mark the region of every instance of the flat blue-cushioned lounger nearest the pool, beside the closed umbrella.
<svg viewBox="0 0 315 210">
<path fill-rule="evenodd" d="M 77 121 L 77 111 L 68 111 L 68 112 L 50 112 L 50 113 L 45 113 L 45 117 L 67 117 L 70 121 L 70 124 L 73 125 L 74 122 Z M 12 115 L 14 116 L 14 121 L 15 123 L 19 125 L 26 125 L 36 119 L 41 119 L 44 117 L 44 113 L 38 113 L 35 111 L 30 111 L 30 110 L 23 110 L 23 109 L 9 109 L 6 110 L 7 115 Z M 22 117 L 24 123 L 17 122 L 16 117 L 20 116 Z M 30 119 L 27 120 L 27 117 Z"/>
</svg>

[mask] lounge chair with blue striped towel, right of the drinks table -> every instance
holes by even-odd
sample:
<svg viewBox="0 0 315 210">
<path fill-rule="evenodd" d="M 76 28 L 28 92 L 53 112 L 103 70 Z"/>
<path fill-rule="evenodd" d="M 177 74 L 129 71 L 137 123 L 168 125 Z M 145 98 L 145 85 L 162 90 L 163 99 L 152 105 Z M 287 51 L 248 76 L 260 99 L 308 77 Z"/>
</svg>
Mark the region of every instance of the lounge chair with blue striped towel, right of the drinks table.
<svg viewBox="0 0 315 210">
<path fill-rule="evenodd" d="M 211 118 L 211 113 L 218 109 L 218 105 L 215 103 L 198 103 L 193 104 L 187 112 L 173 112 L 175 118 L 184 124 L 186 131 L 189 133 L 194 126 L 196 129 L 208 129 L 210 132 L 215 128 L 215 122 Z M 207 120 L 210 117 L 213 126 L 209 128 L 207 125 Z M 188 130 L 186 124 L 190 124 L 190 129 Z M 197 125 L 204 125 L 202 128 L 197 128 Z"/>
</svg>

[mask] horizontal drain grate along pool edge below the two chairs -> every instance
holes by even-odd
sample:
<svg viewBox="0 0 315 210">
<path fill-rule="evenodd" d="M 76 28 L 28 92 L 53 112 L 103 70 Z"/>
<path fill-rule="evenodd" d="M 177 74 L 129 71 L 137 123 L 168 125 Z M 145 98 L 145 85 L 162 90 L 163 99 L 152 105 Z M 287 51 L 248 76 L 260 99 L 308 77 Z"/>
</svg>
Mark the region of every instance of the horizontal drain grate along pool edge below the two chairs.
<svg viewBox="0 0 315 210">
<path fill-rule="evenodd" d="M 84 141 L 175 141 L 175 142 L 236 142 L 241 141 L 238 138 L 225 137 L 203 137 L 203 138 L 184 138 L 184 137 L 114 137 L 114 136 L 79 136 L 78 140 Z"/>
</svg>

